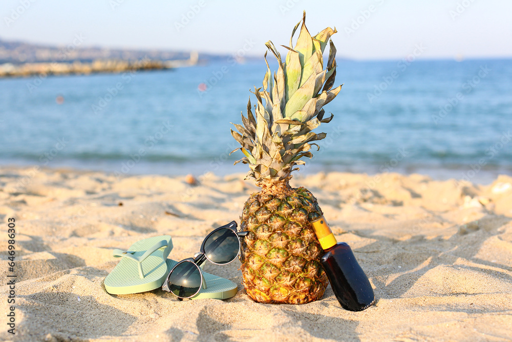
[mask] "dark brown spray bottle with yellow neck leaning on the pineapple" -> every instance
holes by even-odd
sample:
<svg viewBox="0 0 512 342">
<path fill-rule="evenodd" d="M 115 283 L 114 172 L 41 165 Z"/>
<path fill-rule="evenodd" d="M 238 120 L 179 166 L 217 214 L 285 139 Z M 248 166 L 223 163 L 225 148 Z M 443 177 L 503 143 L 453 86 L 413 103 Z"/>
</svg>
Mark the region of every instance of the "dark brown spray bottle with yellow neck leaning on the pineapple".
<svg viewBox="0 0 512 342">
<path fill-rule="evenodd" d="M 370 307 L 375 301 L 373 288 L 350 246 L 344 242 L 336 242 L 324 216 L 311 222 L 311 225 L 326 252 L 320 261 L 339 304 L 350 311 L 361 311 Z"/>
</svg>

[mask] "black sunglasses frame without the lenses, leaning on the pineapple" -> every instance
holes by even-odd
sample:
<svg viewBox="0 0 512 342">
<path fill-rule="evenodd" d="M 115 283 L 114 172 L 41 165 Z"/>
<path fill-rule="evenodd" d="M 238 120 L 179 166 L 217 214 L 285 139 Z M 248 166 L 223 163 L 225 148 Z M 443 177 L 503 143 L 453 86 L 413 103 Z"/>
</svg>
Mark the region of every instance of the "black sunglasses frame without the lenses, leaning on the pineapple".
<svg viewBox="0 0 512 342">
<path fill-rule="evenodd" d="M 167 274 L 167 277 L 165 277 L 165 281 L 163 283 L 163 286 L 162 286 L 162 290 L 164 291 L 167 291 L 167 292 L 170 292 L 172 294 L 174 294 L 175 296 L 178 297 L 179 300 L 183 300 L 183 299 L 186 299 L 186 298 L 191 298 L 191 297 L 194 297 L 195 295 L 197 295 L 201 289 L 206 289 L 206 281 L 204 280 L 204 275 L 203 275 L 203 270 L 201 268 L 201 265 L 204 263 L 205 260 L 208 260 L 210 261 L 210 263 L 212 264 L 215 264 L 215 265 L 227 265 L 227 264 L 230 264 L 232 263 L 234 260 L 236 260 L 236 258 L 240 255 L 240 250 L 242 248 L 242 244 L 240 242 L 240 237 L 241 236 L 247 236 L 247 234 L 249 234 L 248 231 L 244 231 L 244 232 L 239 232 L 237 231 L 237 223 L 235 221 L 231 221 L 230 223 L 228 223 L 227 225 L 224 225 L 222 227 L 219 227 L 219 228 L 216 228 L 214 229 L 213 231 L 211 231 L 208 235 L 206 235 L 206 237 L 204 238 L 203 240 L 203 243 L 201 244 L 201 248 L 200 248 L 200 252 L 199 253 L 196 253 L 194 255 L 193 258 L 186 258 L 186 259 L 183 259 L 181 261 L 179 261 L 178 264 L 176 264 L 172 270 L 170 270 L 169 274 Z M 204 251 L 204 244 L 206 243 L 206 240 L 208 240 L 208 238 L 213 235 L 214 233 L 216 233 L 217 231 L 221 230 L 221 229 L 230 229 L 232 230 L 238 237 L 238 253 L 237 253 L 237 256 L 235 256 L 231 261 L 229 261 L 229 263 L 225 263 L 225 264 L 218 264 L 218 263 L 214 263 L 214 261 L 211 261 L 207 256 L 206 256 L 206 253 Z M 199 289 L 197 290 L 196 293 L 194 293 L 193 295 L 191 296 L 188 296 L 188 297 L 181 297 L 181 296 L 178 296 L 177 294 L 175 294 L 174 292 L 171 292 L 170 289 L 169 289 L 169 277 L 170 277 L 170 274 L 173 273 L 173 271 L 176 269 L 176 267 L 178 267 L 178 265 L 182 264 L 182 263 L 193 263 L 194 266 L 196 266 L 198 269 L 199 269 L 199 273 L 201 274 L 201 285 L 199 286 Z"/>
</svg>

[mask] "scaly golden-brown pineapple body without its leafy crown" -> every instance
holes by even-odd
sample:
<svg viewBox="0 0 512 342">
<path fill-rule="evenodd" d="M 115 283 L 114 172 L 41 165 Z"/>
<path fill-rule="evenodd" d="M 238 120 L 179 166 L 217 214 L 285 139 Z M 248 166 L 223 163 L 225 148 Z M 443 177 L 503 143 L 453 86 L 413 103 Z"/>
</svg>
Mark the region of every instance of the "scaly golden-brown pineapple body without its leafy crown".
<svg viewBox="0 0 512 342">
<path fill-rule="evenodd" d="M 288 182 L 286 182 L 288 183 Z M 305 304 L 321 299 L 328 285 L 324 254 L 310 225 L 321 216 L 316 198 L 303 187 L 263 187 L 244 206 L 240 253 L 242 282 L 254 301 Z"/>
</svg>

